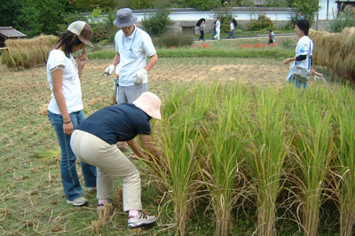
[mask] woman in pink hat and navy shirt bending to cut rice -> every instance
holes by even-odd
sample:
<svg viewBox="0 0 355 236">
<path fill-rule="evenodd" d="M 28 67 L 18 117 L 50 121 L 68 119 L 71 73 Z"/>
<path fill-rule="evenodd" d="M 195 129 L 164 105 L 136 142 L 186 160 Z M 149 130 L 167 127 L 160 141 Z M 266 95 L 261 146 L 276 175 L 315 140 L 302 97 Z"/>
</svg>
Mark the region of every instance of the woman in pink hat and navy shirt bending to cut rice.
<svg viewBox="0 0 355 236">
<path fill-rule="evenodd" d="M 114 191 L 113 177 L 123 180 L 123 211 L 128 211 L 130 228 L 155 222 L 155 216 L 147 216 L 142 210 L 141 185 L 138 169 L 116 146 L 126 141 L 134 153 L 142 159 L 159 159 L 158 149 L 151 137 L 151 118 L 161 120 L 161 100 L 152 92 L 143 92 L 133 103 L 107 106 L 91 114 L 74 131 L 71 146 L 80 161 L 98 168 L 98 206 L 110 203 Z M 145 153 L 134 140 L 142 142 Z"/>
</svg>

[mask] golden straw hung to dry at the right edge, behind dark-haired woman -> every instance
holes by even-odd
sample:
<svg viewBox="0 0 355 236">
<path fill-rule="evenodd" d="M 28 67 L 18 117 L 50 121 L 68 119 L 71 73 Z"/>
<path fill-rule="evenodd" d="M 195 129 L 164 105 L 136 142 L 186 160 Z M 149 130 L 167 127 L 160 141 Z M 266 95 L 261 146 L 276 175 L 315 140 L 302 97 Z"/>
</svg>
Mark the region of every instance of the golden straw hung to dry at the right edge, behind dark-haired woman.
<svg viewBox="0 0 355 236">
<path fill-rule="evenodd" d="M 330 67 L 347 80 L 355 80 L 355 28 L 344 28 L 342 33 L 310 31 L 314 42 L 313 59 Z"/>
</svg>

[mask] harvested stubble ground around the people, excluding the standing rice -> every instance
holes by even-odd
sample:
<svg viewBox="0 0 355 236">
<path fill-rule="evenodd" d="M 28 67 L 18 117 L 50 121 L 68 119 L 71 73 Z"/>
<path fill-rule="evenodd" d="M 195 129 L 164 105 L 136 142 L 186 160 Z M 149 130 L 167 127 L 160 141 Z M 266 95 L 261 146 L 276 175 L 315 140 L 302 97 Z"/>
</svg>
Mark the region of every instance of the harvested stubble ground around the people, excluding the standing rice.
<svg viewBox="0 0 355 236">
<path fill-rule="evenodd" d="M 114 76 L 105 76 L 98 83 L 111 60 L 90 60 L 85 67 L 82 89 L 86 115 L 111 103 Z M 283 65 L 281 59 L 167 58 L 159 59 L 149 72 L 149 85 L 150 90 L 164 101 L 169 96 L 170 85 L 190 87 L 219 80 L 250 86 L 283 86 L 287 73 L 288 66 Z M 90 235 L 91 220 L 98 219 L 95 193 L 84 189 L 89 207 L 72 208 L 66 204 L 59 173 L 59 145 L 46 117 L 50 90 L 45 67 L 9 71 L 0 65 L 0 83 L 0 234 Z M 329 83 L 329 86 L 338 85 Z M 174 235 L 174 225 L 169 218 L 173 217 L 172 212 L 161 212 L 159 204 L 164 196 L 155 192 L 152 173 L 143 163 L 135 163 L 142 176 L 144 209 L 158 216 L 158 222 L 151 229 L 130 231 L 127 215 L 122 213 L 122 208 L 116 208 L 101 233 Z M 77 167 L 80 169 L 79 165 Z M 120 182 L 117 180 L 114 185 L 119 186 Z M 241 216 L 235 220 L 238 224 L 234 235 L 252 233 L 252 213 L 248 218 Z M 298 230 L 296 224 L 288 222 L 282 223 L 280 228 L 284 232 L 282 235 L 291 235 Z M 193 218 L 188 230 L 188 235 L 211 235 L 214 232 L 212 223 L 201 217 Z"/>
</svg>

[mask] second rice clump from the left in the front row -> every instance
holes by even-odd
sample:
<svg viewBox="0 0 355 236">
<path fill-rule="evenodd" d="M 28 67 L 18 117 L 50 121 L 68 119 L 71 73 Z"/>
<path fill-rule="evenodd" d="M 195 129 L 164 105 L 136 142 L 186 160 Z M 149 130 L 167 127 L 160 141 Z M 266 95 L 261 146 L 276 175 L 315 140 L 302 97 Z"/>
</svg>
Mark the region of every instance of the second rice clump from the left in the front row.
<svg viewBox="0 0 355 236">
<path fill-rule="evenodd" d="M 241 181 L 241 153 L 246 143 L 243 127 L 248 109 L 248 96 L 241 86 L 219 90 L 221 103 L 217 120 L 209 122 L 201 133 L 206 164 L 201 168 L 209 199 L 215 212 L 216 235 L 227 235 L 231 228 L 231 212 L 242 189 L 234 189 Z"/>
</svg>

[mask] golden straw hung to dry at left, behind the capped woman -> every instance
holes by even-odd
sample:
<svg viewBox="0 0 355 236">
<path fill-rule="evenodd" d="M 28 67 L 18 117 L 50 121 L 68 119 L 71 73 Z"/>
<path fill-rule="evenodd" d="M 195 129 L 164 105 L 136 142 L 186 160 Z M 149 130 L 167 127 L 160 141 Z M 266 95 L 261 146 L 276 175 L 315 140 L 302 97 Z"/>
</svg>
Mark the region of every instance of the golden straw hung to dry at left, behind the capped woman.
<svg viewBox="0 0 355 236">
<path fill-rule="evenodd" d="M 10 68 L 43 65 L 58 39 L 53 35 L 41 35 L 33 39 L 8 39 L 5 42 L 6 50 L 1 56 L 1 61 Z"/>
</svg>

